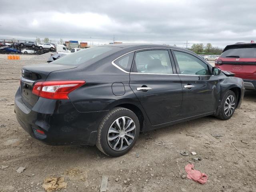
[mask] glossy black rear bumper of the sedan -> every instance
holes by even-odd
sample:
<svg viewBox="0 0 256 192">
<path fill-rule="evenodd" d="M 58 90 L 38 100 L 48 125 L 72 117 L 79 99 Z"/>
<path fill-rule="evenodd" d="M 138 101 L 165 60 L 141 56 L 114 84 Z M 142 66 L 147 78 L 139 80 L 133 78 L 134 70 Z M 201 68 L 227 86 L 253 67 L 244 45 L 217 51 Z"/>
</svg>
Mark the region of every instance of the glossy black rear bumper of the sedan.
<svg viewBox="0 0 256 192">
<path fill-rule="evenodd" d="M 14 110 L 22 128 L 45 144 L 94 145 L 98 125 L 106 112 L 78 112 L 70 100 L 39 98 L 32 109 L 22 101 L 20 88 L 15 96 Z M 45 134 L 36 132 L 36 129 Z"/>
</svg>

